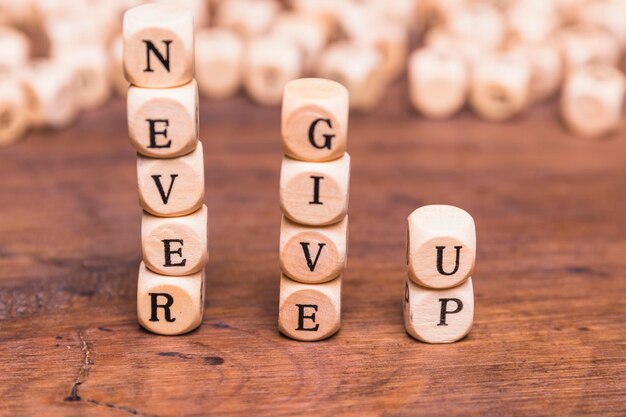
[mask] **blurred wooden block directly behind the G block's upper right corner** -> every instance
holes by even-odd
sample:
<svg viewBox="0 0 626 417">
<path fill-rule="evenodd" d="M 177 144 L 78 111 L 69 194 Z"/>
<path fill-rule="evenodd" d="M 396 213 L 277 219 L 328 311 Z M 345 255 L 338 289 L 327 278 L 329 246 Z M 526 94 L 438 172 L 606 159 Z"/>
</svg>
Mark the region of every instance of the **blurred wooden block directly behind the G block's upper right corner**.
<svg viewBox="0 0 626 417">
<path fill-rule="evenodd" d="M 320 56 L 317 76 L 337 81 L 350 92 L 350 108 L 372 110 L 385 92 L 387 79 L 382 74 L 383 57 L 371 46 L 336 42 Z"/>
</svg>

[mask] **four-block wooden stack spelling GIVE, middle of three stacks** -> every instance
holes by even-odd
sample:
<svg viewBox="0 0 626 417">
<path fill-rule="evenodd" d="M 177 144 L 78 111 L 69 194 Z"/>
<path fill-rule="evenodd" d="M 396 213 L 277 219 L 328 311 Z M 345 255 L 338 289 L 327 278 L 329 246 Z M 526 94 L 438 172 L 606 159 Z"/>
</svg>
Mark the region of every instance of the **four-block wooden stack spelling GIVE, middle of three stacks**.
<svg viewBox="0 0 626 417">
<path fill-rule="evenodd" d="M 289 82 L 282 105 L 278 327 L 315 341 L 341 326 L 347 262 L 348 90 L 318 78 Z"/>
</svg>

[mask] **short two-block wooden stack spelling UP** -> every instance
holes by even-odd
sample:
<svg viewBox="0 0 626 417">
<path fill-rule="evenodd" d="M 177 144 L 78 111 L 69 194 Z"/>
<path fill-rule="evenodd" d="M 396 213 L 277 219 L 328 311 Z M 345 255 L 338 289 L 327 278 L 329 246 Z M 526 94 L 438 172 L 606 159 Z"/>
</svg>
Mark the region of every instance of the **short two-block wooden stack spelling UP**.
<svg viewBox="0 0 626 417">
<path fill-rule="evenodd" d="M 408 218 L 404 325 L 428 343 L 451 343 L 469 333 L 474 320 L 472 272 L 476 226 L 466 211 L 425 206 Z"/>
</svg>

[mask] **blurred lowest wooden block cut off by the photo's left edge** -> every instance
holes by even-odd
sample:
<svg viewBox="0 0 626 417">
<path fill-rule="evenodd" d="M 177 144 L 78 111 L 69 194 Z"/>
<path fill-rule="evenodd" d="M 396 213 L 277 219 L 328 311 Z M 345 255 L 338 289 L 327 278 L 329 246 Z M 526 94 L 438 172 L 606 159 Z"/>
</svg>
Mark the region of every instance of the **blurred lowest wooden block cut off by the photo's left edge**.
<svg viewBox="0 0 626 417">
<path fill-rule="evenodd" d="M 26 92 L 20 81 L 0 74 L 0 146 L 15 143 L 29 126 Z"/>
</svg>

